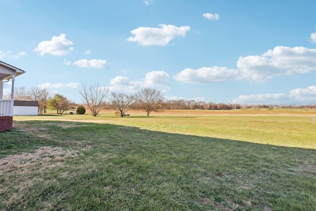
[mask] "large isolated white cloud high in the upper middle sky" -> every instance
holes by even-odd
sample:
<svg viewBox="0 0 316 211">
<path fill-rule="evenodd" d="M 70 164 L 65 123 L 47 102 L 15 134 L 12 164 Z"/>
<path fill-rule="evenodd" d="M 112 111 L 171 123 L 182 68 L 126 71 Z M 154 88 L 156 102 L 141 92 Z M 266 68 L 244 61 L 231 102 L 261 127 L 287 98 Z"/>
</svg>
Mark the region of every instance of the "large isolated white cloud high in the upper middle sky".
<svg viewBox="0 0 316 211">
<path fill-rule="evenodd" d="M 134 37 L 130 37 L 127 41 L 138 42 L 140 45 L 159 45 L 165 46 L 175 36 L 184 37 L 188 31 L 189 26 L 176 27 L 173 25 L 160 24 L 160 28 L 139 27 L 131 31 Z"/>
</svg>

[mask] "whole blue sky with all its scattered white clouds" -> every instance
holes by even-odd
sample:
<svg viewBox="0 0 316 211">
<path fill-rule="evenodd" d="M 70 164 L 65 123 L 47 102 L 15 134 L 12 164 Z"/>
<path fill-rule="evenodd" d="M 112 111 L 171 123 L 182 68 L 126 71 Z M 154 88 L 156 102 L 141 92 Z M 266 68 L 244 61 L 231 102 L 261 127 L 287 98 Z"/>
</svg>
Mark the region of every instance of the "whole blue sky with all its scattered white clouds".
<svg viewBox="0 0 316 211">
<path fill-rule="evenodd" d="M 16 86 L 165 100 L 316 104 L 315 0 L 0 0 Z M 4 90 L 10 92 L 10 84 Z"/>
</svg>

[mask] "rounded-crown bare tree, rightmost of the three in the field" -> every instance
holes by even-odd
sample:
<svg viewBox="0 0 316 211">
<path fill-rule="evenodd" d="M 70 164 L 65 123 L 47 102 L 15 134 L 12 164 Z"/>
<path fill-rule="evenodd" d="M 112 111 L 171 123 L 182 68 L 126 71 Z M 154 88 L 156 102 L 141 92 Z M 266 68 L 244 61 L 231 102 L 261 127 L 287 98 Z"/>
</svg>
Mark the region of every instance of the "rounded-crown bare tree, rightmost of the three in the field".
<svg viewBox="0 0 316 211">
<path fill-rule="evenodd" d="M 135 94 L 136 102 L 140 109 L 147 112 L 147 117 L 152 111 L 159 111 L 163 95 L 155 88 L 143 88 Z"/>
</svg>

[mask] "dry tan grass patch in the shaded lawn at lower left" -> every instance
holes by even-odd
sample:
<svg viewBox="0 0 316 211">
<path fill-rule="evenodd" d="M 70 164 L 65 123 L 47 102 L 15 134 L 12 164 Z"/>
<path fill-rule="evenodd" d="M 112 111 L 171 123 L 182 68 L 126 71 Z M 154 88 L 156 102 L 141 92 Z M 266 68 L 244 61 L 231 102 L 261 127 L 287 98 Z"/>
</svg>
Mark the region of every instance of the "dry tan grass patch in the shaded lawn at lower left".
<svg viewBox="0 0 316 211">
<path fill-rule="evenodd" d="M 25 191 L 29 187 L 39 182 L 54 183 L 52 180 L 44 179 L 46 172 L 67 165 L 65 164 L 66 159 L 77 158 L 80 155 L 78 151 L 45 146 L 40 147 L 34 153 L 8 155 L 0 159 L 0 174 L 6 175 L 0 184 L 0 195 L 4 198 L 4 203 L 23 205 Z M 68 172 L 62 174 L 61 176 L 69 175 Z M 5 197 L 9 192 L 14 194 Z M 50 207 L 49 203 L 47 203 L 47 207 Z"/>
</svg>

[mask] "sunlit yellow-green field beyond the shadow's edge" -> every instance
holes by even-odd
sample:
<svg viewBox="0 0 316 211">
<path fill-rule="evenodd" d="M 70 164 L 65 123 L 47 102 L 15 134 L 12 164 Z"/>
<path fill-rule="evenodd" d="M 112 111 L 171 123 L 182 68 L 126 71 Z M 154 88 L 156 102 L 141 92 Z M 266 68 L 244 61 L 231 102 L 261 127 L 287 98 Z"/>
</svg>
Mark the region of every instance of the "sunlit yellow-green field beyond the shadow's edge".
<svg viewBox="0 0 316 211">
<path fill-rule="evenodd" d="M 87 113 L 89 113 L 87 111 Z M 316 109 L 268 109 L 262 110 L 164 110 L 152 112 L 150 117 L 139 110 L 130 110 L 129 117 L 116 117 L 115 110 L 103 110 L 97 117 L 84 115 L 57 115 L 54 111 L 42 116 L 17 116 L 14 121 L 75 121 L 107 123 L 139 127 L 143 129 L 229 138 L 279 146 L 316 149 Z"/>
</svg>

